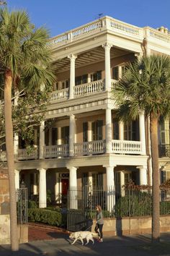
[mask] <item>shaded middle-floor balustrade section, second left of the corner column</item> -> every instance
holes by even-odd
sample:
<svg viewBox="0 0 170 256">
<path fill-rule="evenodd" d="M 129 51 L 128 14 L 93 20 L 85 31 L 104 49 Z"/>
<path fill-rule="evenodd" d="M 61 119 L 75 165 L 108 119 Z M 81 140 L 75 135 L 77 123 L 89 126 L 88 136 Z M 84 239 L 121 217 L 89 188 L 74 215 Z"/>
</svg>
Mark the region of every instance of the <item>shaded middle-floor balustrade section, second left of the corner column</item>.
<svg viewBox="0 0 170 256">
<path fill-rule="evenodd" d="M 58 156 L 68 156 L 68 144 L 43 147 L 44 158 L 56 158 Z"/>
</svg>

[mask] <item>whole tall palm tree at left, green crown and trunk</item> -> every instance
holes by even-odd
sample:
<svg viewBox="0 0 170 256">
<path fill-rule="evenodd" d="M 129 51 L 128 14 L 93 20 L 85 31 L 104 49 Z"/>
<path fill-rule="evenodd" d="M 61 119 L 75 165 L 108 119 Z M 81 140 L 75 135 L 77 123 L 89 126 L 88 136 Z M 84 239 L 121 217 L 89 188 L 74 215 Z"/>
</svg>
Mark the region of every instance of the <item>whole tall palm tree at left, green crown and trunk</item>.
<svg viewBox="0 0 170 256">
<path fill-rule="evenodd" d="M 48 30 L 44 27 L 35 29 L 34 25 L 30 23 L 27 12 L 0 10 L 0 74 L 4 79 L 4 116 L 9 171 L 12 251 L 19 249 L 14 184 L 12 93 L 19 87 L 35 90 L 35 93 L 38 93 L 40 85 L 52 85 L 54 74 L 49 65 L 51 52 L 46 47 L 48 39 Z"/>
</svg>

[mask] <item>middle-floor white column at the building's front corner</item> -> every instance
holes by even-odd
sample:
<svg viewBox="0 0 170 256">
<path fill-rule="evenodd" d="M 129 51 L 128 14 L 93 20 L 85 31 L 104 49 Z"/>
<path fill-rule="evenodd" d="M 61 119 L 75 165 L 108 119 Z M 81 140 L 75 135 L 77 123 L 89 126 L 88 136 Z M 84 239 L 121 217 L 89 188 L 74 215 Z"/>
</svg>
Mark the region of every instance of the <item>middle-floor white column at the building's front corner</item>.
<svg viewBox="0 0 170 256">
<path fill-rule="evenodd" d="M 106 137 L 106 153 L 112 153 L 112 111 L 111 108 L 106 109 L 106 125 L 105 125 L 105 137 Z"/>
</svg>

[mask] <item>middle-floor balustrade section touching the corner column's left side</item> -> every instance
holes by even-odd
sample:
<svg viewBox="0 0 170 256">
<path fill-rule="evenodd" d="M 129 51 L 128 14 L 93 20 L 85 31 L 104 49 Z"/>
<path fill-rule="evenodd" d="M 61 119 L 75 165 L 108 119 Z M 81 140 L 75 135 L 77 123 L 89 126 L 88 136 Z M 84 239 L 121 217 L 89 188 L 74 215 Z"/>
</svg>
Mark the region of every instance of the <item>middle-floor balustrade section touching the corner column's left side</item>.
<svg viewBox="0 0 170 256">
<path fill-rule="evenodd" d="M 105 152 L 105 141 L 94 140 L 91 142 L 74 143 L 75 155 L 92 155 Z"/>
</svg>

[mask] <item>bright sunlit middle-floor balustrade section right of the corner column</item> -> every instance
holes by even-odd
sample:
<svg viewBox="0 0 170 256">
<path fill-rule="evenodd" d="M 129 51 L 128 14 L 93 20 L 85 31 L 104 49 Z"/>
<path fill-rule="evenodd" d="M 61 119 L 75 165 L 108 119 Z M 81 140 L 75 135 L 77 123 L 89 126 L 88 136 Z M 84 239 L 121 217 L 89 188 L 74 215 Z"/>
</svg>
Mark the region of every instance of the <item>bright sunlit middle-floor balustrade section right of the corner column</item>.
<svg viewBox="0 0 170 256">
<path fill-rule="evenodd" d="M 141 142 L 133 140 L 112 140 L 112 153 L 138 154 L 142 152 Z"/>
</svg>

